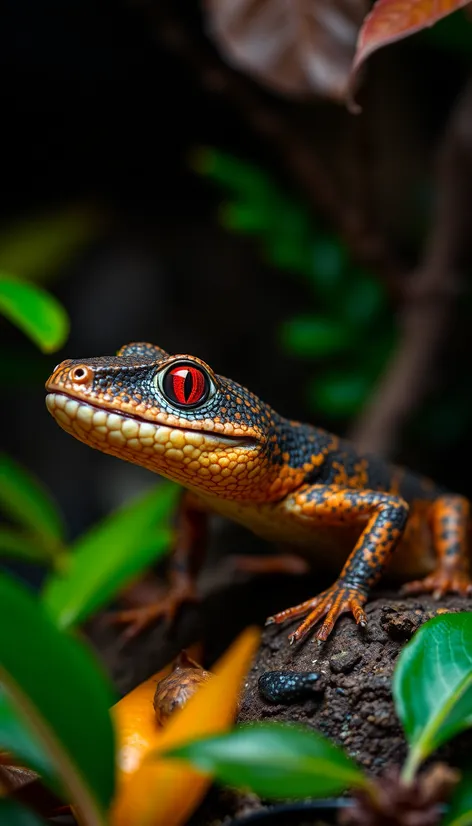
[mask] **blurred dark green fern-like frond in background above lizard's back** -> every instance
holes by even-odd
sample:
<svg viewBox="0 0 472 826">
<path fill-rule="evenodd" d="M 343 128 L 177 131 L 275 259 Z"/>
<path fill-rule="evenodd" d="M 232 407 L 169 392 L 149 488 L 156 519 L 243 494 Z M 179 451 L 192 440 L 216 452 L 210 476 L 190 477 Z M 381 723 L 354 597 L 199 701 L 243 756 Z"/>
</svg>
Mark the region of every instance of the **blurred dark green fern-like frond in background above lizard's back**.
<svg viewBox="0 0 472 826">
<path fill-rule="evenodd" d="M 260 168 L 216 149 L 199 150 L 192 165 L 229 193 L 221 224 L 255 238 L 264 259 L 292 276 L 287 289 L 296 276 L 312 295 L 313 309 L 289 319 L 279 342 L 314 366 L 306 389 L 314 413 L 338 420 L 355 416 L 395 345 L 383 285 Z"/>
</svg>

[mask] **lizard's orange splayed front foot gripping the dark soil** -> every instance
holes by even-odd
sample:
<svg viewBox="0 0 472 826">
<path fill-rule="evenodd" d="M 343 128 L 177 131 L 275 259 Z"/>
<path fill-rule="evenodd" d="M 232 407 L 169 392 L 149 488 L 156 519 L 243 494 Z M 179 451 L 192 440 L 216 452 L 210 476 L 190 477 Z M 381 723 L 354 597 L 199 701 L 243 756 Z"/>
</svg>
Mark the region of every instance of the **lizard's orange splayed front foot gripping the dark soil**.
<svg viewBox="0 0 472 826">
<path fill-rule="evenodd" d="M 266 621 L 266 625 L 272 623 L 281 623 L 287 619 L 294 619 L 300 617 L 302 614 L 308 613 L 307 618 L 298 626 L 297 630 L 290 635 L 289 642 L 292 645 L 299 642 L 314 628 L 314 626 L 324 617 L 324 622 L 318 629 L 316 639 L 319 642 L 325 642 L 333 630 L 336 621 L 346 612 L 354 615 L 358 625 L 365 627 L 367 625 L 367 617 L 364 611 L 364 605 L 367 597 L 357 588 L 352 588 L 344 585 L 342 582 L 335 582 L 331 588 L 323 591 L 322 594 L 302 602 L 300 605 L 295 605 L 293 608 L 287 608 L 279 614 L 274 614 Z"/>
</svg>

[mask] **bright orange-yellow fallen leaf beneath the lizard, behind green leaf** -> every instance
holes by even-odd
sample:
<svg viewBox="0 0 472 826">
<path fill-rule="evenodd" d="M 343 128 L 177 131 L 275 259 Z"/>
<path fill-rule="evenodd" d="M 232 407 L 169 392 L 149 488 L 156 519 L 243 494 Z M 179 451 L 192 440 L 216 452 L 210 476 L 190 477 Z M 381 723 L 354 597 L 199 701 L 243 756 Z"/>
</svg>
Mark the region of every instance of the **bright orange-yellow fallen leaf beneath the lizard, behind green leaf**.
<svg viewBox="0 0 472 826">
<path fill-rule="evenodd" d="M 118 790 L 112 826 L 182 826 L 186 822 L 211 785 L 211 777 L 180 761 L 159 758 L 156 753 L 230 727 L 259 638 L 255 628 L 244 631 L 212 669 L 215 679 L 205 683 L 150 738 L 150 751 L 140 768 Z"/>
</svg>

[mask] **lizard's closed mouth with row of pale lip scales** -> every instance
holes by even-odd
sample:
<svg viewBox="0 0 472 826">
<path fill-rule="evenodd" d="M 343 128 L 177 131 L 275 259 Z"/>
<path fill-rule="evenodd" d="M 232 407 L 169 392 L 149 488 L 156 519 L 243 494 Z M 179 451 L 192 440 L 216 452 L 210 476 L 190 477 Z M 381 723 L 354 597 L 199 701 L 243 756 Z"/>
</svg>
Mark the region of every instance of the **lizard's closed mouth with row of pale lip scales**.
<svg viewBox="0 0 472 826">
<path fill-rule="evenodd" d="M 226 434 L 205 430 L 204 428 L 186 428 L 181 425 L 167 424 L 158 419 L 150 421 L 142 416 L 122 410 L 104 407 L 94 402 L 77 399 L 69 393 L 50 392 L 46 396 L 46 406 L 51 415 L 59 422 L 64 430 L 69 430 L 73 435 L 78 435 L 76 430 L 82 431 L 81 437 L 86 437 L 88 433 L 98 433 L 107 438 L 107 435 L 115 433 L 113 441 L 119 442 L 119 435 L 123 442 L 139 442 L 150 446 L 153 442 L 164 444 L 164 439 L 181 443 L 182 438 L 187 444 L 195 444 L 204 449 L 204 443 L 208 449 L 215 447 L 246 447 L 255 448 L 257 440 L 250 436 L 228 436 Z M 178 434 L 182 438 L 179 438 Z M 174 435 L 172 438 L 172 434 Z M 130 447 L 136 445 L 130 445 Z"/>
</svg>

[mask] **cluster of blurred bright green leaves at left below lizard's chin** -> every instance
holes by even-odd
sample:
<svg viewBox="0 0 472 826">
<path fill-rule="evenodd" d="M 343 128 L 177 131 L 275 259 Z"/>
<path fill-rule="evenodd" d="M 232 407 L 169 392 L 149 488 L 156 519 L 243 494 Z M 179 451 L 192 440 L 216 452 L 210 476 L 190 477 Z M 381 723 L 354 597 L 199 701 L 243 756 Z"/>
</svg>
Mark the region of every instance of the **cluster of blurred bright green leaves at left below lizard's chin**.
<svg viewBox="0 0 472 826">
<path fill-rule="evenodd" d="M 163 482 L 67 545 L 61 514 L 44 486 L 0 456 L 0 512 L 14 523 L 0 528 L 0 557 L 52 568 L 43 601 L 57 625 L 68 628 L 84 622 L 168 551 L 168 523 L 178 496 L 177 485 Z"/>
</svg>

